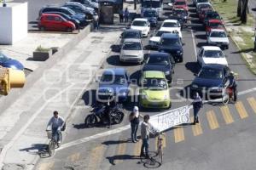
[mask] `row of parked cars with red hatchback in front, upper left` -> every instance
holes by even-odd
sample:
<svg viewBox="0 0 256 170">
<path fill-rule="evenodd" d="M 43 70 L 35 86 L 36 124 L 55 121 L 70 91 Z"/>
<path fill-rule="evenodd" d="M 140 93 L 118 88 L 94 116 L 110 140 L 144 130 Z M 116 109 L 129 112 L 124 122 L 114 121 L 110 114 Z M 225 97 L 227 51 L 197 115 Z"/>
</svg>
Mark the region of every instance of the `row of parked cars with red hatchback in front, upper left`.
<svg viewBox="0 0 256 170">
<path fill-rule="evenodd" d="M 71 32 L 98 20 L 97 12 L 98 3 L 93 0 L 70 0 L 62 6 L 47 5 L 39 11 L 38 29 Z"/>
</svg>

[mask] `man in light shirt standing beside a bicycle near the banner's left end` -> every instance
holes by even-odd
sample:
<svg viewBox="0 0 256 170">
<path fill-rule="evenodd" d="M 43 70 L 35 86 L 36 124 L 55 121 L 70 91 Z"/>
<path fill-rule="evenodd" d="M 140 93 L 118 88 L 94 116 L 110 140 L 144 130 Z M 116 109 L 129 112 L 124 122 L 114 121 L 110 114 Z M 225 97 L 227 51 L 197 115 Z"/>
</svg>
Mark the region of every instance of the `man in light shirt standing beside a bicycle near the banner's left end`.
<svg viewBox="0 0 256 170">
<path fill-rule="evenodd" d="M 142 122 L 141 125 L 141 137 L 143 139 L 143 144 L 141 148 L 141 157 L 145 156 L 147 159 L 149 158 L 148 156 L 148 147 L 149 147 L 149 133 L 151 132 L 150 130 L 150 124 L 149 124 L 149 115 L 144 116 L 144 121 Z M 151 132 L 152 133 L 152 132 Z M 145 150 L 145 152 L 144 152 Z"/>
</svg>

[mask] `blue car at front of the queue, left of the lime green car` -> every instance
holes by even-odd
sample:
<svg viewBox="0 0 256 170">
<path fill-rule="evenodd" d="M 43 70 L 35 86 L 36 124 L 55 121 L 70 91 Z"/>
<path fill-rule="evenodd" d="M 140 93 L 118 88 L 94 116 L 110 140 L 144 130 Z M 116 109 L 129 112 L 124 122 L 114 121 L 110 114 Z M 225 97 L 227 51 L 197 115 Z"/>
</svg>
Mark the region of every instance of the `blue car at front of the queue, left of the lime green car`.
<svg viewBox="0 0 256 170">
<path fill-rule="evenodd" d="M 123 103 L 128 99 L 130 79 L 123 68 L 107 69 L 103 71 L 99 88 L 96 92 L 98 102 L 108 102 L 113 99 Z"/>
</svg>

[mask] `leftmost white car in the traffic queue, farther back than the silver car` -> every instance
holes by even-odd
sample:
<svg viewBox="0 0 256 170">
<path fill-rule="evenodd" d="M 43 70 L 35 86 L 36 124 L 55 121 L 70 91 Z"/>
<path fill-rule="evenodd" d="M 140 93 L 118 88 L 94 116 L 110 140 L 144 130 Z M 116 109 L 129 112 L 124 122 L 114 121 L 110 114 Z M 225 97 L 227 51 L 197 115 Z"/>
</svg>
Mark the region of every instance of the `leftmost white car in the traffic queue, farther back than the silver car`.
<svg viewBox="0 0 256 170">
<path fill-rule="evenodd" d="M 148 37 L 150 23 L 148 19 L 135 19 L 131 23 L 131 29 L 142 31 L 143 37 Z"/>
</svg>

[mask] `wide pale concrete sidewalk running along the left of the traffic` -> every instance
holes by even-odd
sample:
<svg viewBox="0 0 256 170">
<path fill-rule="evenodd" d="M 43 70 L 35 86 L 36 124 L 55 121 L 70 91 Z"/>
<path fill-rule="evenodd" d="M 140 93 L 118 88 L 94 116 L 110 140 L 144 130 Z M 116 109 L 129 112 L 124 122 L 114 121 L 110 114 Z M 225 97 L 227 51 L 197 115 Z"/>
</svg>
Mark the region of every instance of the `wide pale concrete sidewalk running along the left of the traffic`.
<svg viewBox="0 0 256 170">
<path fill-rule="evenodd" d="M 91 32 L 1 113 L 0 163 L 4 170 L 34 167 L 40 158 L 38 151 L 48 141 L 44 129 L 53 111 L 67 119 L 123 29 L 115 18 L 113 26 Z"/>
</svg>

